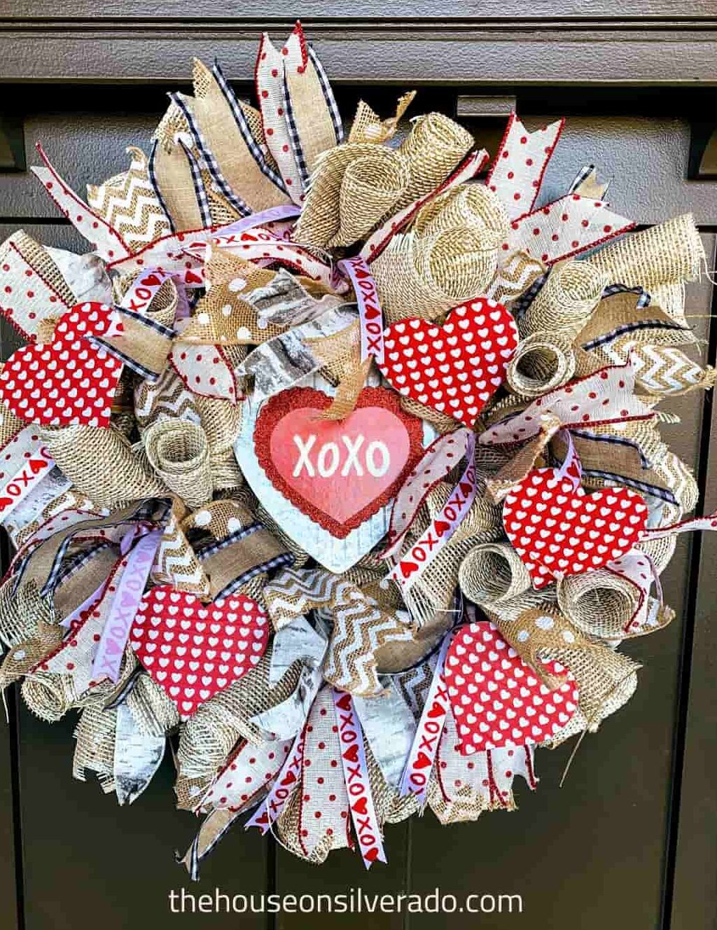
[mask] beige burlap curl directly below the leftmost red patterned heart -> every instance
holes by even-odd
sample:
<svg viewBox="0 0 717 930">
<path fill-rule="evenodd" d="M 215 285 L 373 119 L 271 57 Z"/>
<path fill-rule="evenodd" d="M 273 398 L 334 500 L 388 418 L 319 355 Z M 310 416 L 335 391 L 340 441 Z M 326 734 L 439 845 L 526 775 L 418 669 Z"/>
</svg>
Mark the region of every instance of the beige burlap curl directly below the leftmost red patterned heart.
<svg viewBox="0 0 717 930">
<path fill-rule="evenodd" d="M 113 426 L 47 428 L 40 436 L 60 470 L 95 504 L 113 508 L 167 494 L 143 456 Z"/>
</svg>

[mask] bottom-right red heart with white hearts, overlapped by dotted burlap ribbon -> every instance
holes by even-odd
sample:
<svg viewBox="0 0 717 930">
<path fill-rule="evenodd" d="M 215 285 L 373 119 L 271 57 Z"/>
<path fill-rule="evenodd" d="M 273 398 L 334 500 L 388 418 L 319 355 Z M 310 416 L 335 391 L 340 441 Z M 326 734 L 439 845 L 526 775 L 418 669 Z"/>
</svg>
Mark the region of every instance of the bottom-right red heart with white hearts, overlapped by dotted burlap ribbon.
<svg viewBox="0 0 717 930">
<path fill-rule="evenodd" d="M 558 662 L 545 670 L 564 678 L 554 690 L 538 679 L 493 623 L 471 623 L 453 637 L 444 677 L 463 755 L 551 739 L 578 710 L 575 679 Z"/>
</svg>

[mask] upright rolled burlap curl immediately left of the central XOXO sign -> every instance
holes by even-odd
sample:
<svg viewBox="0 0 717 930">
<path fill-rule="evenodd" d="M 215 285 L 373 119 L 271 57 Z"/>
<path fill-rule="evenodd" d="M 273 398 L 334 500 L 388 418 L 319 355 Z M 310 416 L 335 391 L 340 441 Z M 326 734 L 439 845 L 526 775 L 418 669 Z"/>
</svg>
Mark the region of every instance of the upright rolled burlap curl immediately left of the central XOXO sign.
<svg viewBox="0 0 717 930">
<path fill-rule="evenodd" d="M 144 433 L 144 448 L 153 469 L 190 507 L 212 498 L 212 470 L 206 432 L 197 423 L 160 420 Z"/>
</svg>

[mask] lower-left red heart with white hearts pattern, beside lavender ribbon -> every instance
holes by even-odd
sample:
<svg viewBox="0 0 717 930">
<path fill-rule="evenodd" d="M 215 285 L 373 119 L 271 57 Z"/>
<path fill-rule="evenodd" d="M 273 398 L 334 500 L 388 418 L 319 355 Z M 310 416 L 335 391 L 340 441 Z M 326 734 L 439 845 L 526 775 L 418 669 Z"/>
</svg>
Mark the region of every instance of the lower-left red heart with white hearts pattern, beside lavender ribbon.
<svg viewBox="0 0 717 930">
<path fill-rule="evenodd" d="M 263 656 L 269 620 L 256 601 L 237 594 L 203 604 L 161 585 L 139 603 L 129 642 L 153 680 L 187 720 Z"/>
</svg>

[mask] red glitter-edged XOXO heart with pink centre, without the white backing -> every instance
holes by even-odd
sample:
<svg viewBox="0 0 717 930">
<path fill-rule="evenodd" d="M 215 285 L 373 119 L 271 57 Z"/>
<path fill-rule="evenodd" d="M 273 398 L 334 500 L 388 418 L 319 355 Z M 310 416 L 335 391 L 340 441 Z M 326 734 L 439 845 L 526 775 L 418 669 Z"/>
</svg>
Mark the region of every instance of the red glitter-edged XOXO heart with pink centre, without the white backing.
<svg viewBox="0 0 717 930">
<path fill-rule="evenodd" d="M 422 455 L 423 425 L 385 388 L 365 388 L 345 419 L 318 419 L 330 404 L 312 388 L 277 394 L 261 408 L 254 447 L 272 485 L 343 539 L 403 485 Z"/>
</svg>

